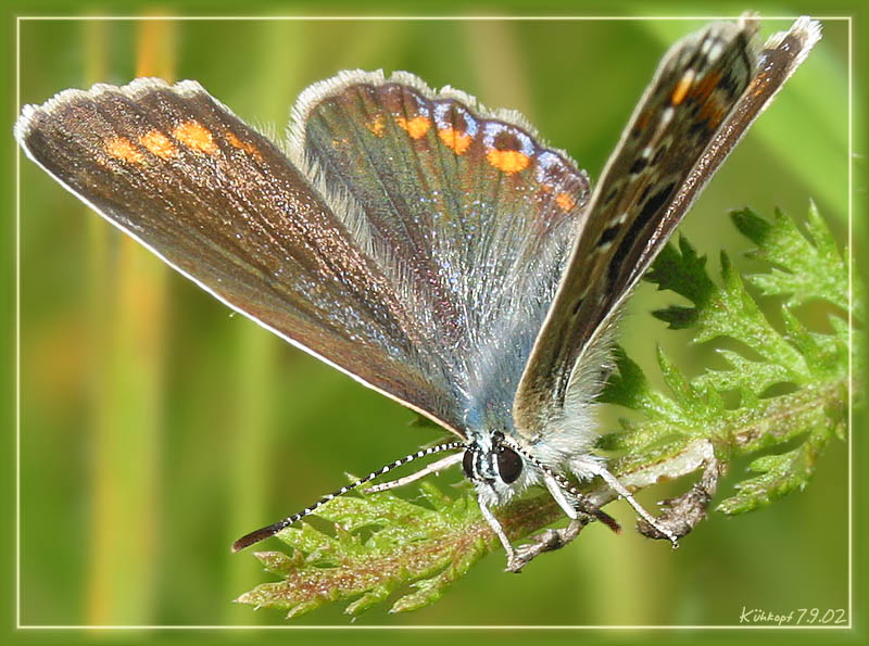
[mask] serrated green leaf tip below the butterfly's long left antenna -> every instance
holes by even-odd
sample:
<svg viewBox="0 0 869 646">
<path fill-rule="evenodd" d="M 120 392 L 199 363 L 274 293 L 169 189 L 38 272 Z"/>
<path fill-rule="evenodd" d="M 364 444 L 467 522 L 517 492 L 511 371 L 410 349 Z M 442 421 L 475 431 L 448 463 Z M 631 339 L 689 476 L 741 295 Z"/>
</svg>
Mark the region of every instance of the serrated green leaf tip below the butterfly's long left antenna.
<svg viewBox="0 0 869 646">
<path fill-rule="evenodd" d="M 318 516 L 335 523 L 335 536 L 307 523 L 284 530 L 278 537 L 293 548 L 293 557 L 260 555 L 266 568 L 284 580 L 260 585 L 238 600 L 299 616 L 357 597 L 345 609 L 355 615 L 385 601 L 408 581 L 441 572 L 432 581 L 441 586 L 451 583 L 453 579 L 443 575 L 445 568 L 454 562 L 470 567 L 491 545 L 479 536 L 470 544 L 453 541 L 457 532 L 480 523 L 479 510 L 462 498 L 449 498 L 430 483 L 425 487 L 427 499 L 438 502 L 437 509 L 391 492 L 331 501 Z M 362 529 L 370 532 L 365 540 L 358 534 Z"/>
</svg>

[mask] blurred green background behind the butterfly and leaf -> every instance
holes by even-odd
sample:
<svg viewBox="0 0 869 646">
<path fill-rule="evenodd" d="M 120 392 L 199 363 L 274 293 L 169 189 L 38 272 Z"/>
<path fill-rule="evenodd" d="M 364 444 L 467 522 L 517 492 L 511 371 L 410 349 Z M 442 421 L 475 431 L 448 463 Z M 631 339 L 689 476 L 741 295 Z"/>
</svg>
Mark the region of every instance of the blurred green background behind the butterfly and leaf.
<svg viewBox="0 0 869 646">
<path fill-rule="evenodd" d="M 704 23 L 25 21 L 21 101 L 141 74 L 193 78 L 282 132 L 308 84 L 344 68 L 407 69 L 520 110 L 596 178 L 659 56 Z M 764 36 L 789 24 L 767 21 Z M 845 243 L 847 28 L 824 22 L 816 51 L 689 215 L 681 231 L 713 267 L 726 249 L 758 269 L 740 257 L 750 244 L 727 217 L 744 205 L 802 216 L 815 199 Z M 675 300 L 642 286 L 622 327 L 622 344 L 658 382 L 656 343 L 690 373 L 716 362 L 648 314 Z M 438 436 L 230 315 L 24 159 L 21 326 L 25 625 L 281 624 L 279 612 L 231 603 L 270 579 L 250 554 L 229 553 L 232 540 L 331 491 L 345 471 Z M 608 428 L 619 415 L 608 411 Z M 733 465 L 719 499 L 745 467 Z M 399 616 L 383 606 L 354 625 L 733 625 L 743 607 L 847 608 L 847 446 L 835 443 L 806 492 L 744 517 L 713 514 L 678 552 L 592 527 L 520 577 L 495 554 L 438 604 Z M 607 511 L 632 527 L 624 503 Z M 294 623 L 348 622 L 336 607 Z"/>
</svg>

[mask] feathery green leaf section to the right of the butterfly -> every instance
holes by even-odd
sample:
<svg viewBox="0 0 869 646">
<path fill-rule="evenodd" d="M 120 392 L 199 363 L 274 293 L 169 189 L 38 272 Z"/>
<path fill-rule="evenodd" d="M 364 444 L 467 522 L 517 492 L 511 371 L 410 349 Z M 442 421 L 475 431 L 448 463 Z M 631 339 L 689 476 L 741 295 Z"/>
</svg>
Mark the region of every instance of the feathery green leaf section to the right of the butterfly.
<svg viewBox="0 0 869 646">
<path fill-rule="evenodd" d="M 719 350 L 729 368 L 708 370 L 691 381 L 681 378 L 670 364 L 660 362 L 672 401 L 684 414 L 682 419 L 673 417 L 670 422 L 688 425 L 694 419 L 700 426 L 705 421 L 708 428 L 700 433 L 727 444 L 734 455 L 777 446 L 801 434 L 806 436 L 788 453 L 752 463 L 752 469 L 760 474 L 738 484 L 740 493 L 719 505 L 719 510 L 727 514 L 755 509 L 804 487 L 831 434 L 842 435 L 849 333 L 836 316 L 830 318 L 832 334 L 809 331 L 789 306 L 816 300 L 839 306 L 847 303 L 846 264 L 814 204 L 806 226 L 808 237 L 781 212 L 776 212 L 772 221 L 750 210 L 734 212 L 732 218 L 740 231 L 758 245 L 748 255 L 772 265 L 768 273 L 753 275 L 752 284 L 764 294 L 788 296 L 780 309 L 782 331 L 764 315 L 723 253 L 721 287 L 698 279 L 695 284 L 711 287 L 693 292 L 684 288 L 682 275 L 701 267 L 690 246 L 681 253 L 671 249 L 664 256 L 666 273 L 650 274 L 662 287 L 672 286 L 694 302 L 690 318 L 695 341 L 730 338 L 761 357 L 757 360 L 732 350 Z M 665 320 L 685 320 L 688 309 L 668 308 L 656 315 Z M 633 379 L 640 381 L 642 377 Z M 790 384 L 794 392 L 764 397 L 776 384 Z M 715 393 L 725 391 L 740 394 L 736 408 L 719 408 L 720 400 Z M 629 425 L 626 436 L 609 445 L 642 449 L 642 441 L 663 435 L 663 430 L 656 428 L 659 423 L 660 418 L 652 417 L 648 422 Z M 688 432 L 684 427 L 681 430 Z"/>
</svg>

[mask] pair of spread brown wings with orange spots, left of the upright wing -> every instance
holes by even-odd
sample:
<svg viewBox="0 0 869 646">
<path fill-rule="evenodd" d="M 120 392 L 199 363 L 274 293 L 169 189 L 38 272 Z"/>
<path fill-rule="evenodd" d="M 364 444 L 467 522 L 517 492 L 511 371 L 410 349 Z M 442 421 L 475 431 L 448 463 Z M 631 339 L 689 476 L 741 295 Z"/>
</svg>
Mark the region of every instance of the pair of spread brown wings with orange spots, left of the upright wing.
<svg viewBox="0 0 869 646">
<path fill-rule="evenodd" d="M 138 79 L 27 106 L 16 136 L 229 306 L 467 436 L 474 402 L 508 415 L 588 182 L 465 103 L 343 73 L 300 98 L 288 160 L 198 84 Z"/>
</svg>

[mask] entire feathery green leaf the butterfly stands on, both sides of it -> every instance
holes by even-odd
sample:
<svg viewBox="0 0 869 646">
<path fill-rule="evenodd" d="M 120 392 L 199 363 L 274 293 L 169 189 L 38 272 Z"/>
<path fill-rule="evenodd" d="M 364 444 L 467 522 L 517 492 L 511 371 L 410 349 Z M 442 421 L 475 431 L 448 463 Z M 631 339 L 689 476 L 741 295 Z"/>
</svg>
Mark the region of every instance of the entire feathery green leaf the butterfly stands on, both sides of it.
<svg viewBox="0 0 869 646">
<path fill-rule="evenodd" d="M 814 205 L 806 236 L 778 212 L 770 221 L 745 210 L 734 213 L 733 220 L 757 244 L 752 255 L 771 265 L 769 271 L 752 276 L 751 283 L 761 293 L 788 296 L 779 308 L 780 322 L 773 325 L 765 316 L 726 254 L 719 282 L 709 277 L 705 257 L 688 241 L 680 240 L 678 249 L 668 245 L 647 278 L 691 305 L 671 306 L 655 316 L 673 328 L 690 325 L 695 342 L 731 339 L 741 345 L 718 349 L 726 368 L 692 379 L 658 351 L 665 391 L 653 389 L 640 367 L 616 349 L 616 370 L 601 401 L 635 410 L 642 419 L 622 420 L 620 431 L 602 435 L 597 443 L 603 451 L 621 453 L 610 464 L 619 478 L 652 465 L 666 478 L 687 476 L 695 467 L 685 465 L 696 460 L 684 460 L 684 452 L 697 441 L 711 443 L 723 463 L 733 456 L 755 457 L 752 474 L 718 505 L 726 514 L 763 507 L 807 485 L 829 441 L 846 438 L 848 362 L 857 367 L 862 357 L 849 345 L 849 339 L 857 343 L 860 334 L 844 318 L 831 314 L 831 332 L 820 333 L 809 330 L 793 309 L 811 300 L 847 304 L 842 292 L 847 289 L 847 262 Z M 857 312 L 862 291 L 855 288 Z M 855 376 L 859 379 L 861 372 Z M 774 387 L 782 394 L 769 396 Z M 739 394 L 735 405 L 726 406 L 727 392 Z M 855 392 L 861 393 L 858 385 Z M 758 456 L 781 451 L 784 443 L 790 443 L 788 451 Z M 391 598 L 391 612 L 436 601 L 498 548 L 499 541 L 473 492 L 454 498 L 430 482 L 423 482 L 420 490 L 418 502 L 389 491 L 331 501 L 318 516 L 332 523 L 332 532 L 306 523 L 282 531 L 279 537 L 290 546 L 289 556 L 256 555 L 281 580 L 264 583 L 238 600 L 280 608 L 288 617 L 335 601 L 347 601 L 349 615 Z M 512 540 L 563 518 L 546 494 L 498 512 Z"/>
</svg>

